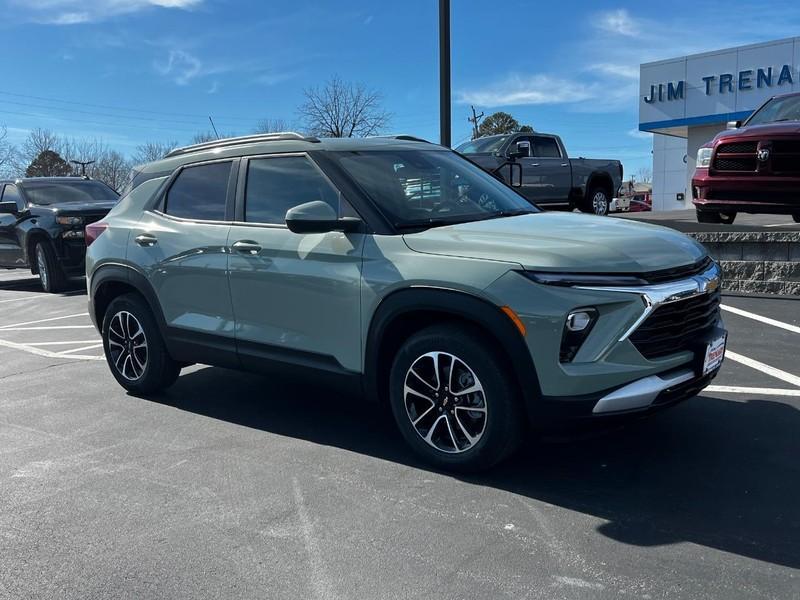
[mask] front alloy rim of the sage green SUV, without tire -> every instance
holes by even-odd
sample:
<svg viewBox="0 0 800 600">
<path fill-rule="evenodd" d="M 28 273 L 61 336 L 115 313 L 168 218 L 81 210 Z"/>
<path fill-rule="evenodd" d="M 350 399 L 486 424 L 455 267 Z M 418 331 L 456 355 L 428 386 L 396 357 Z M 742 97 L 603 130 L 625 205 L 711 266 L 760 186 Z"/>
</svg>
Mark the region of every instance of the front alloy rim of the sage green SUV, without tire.
<svg viewBox="0 0 800 600">
<path fill-rule="evenodd" d="M 441 452 L 466 452 L 486 430 L 483 385 L 466 362 L 448 352 L 428 352 L 411 364 L 403 400 L 417 434 Z"/>
</svg>

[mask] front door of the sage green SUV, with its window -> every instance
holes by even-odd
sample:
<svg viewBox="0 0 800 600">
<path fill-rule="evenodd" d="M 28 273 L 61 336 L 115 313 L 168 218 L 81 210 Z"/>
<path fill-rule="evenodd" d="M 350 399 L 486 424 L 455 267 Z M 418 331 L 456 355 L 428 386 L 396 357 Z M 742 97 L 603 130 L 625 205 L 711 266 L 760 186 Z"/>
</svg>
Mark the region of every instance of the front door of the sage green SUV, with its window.
<svg viewBox="0 0 800 600">
<path fill-rule="evenodd" d="M 364 234 L 297 234 L 285 224 L 306 202 L 353 216 L 349 204 L 306 154 L 243 160 L 239 190 L 228 264 L 242 363 L 360 370 Z"/>
</svg>

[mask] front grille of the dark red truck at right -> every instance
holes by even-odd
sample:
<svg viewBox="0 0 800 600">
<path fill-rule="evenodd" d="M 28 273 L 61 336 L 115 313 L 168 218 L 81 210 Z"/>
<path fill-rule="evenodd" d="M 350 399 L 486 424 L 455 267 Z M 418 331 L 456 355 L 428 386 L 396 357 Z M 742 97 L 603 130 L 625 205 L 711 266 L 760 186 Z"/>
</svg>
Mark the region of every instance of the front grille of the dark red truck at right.
<svg viewBox="0 0 800 600">
<path fill-rule="evenodd" d="M 758 151 L 769 150 L 759 161 Z M 714 154 L 714 171 L 740 175 L 800 176 L 800 140 L 762 140 L 720 144 Z"/>
</svg>

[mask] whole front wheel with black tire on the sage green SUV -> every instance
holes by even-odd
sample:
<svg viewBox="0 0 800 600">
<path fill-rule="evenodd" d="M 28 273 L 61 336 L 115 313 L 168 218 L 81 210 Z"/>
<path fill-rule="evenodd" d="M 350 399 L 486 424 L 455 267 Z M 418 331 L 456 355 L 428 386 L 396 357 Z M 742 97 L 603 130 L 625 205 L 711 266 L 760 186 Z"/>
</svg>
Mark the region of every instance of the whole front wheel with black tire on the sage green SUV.
<svg viewBox="0 0 800 600">
<path fill-rule="evenodd" d="M 494 349 L 492 341 L 478 330 L 468 326 L 436 325 L 411 336 L 395 356 L 389 393 L 392 414 L 414 452 L 437 468 L 458 472 L 481 471 L 510 456 L 519 445 L 524 424 L 519 389 L 508 365 L 500 358 L 501 351 Z M 428 353 L 443 353 L 438 359 L 441 371 L 437 381 L 439 392 L 432 391 L 430 386 L 423 387 L 426 392 L 439 394 L 435 398 L 431 396 L 430 401 L 406 393 L 407 382 L 417 389 L 423 385 L 416 381 L 416 376 L 412 376 L 412 366 L 419 369 L 415 372 L 424 374 L 427 370 L 428 375 L 433 377 L 434 363 L 431 357 L 426 356 Z M 452 362 L 448 368 L 448 355 L 456 357 L 455 369 Z M 469 382 L 473 381 L 482 391 L 461 395 L 461 391 L 448 390 L 446 377 L 449 378 L 451 373 L 459 380 L 452 385 L 454 389 L 462 384 L 468 387 L 462 387 L 461 390 L 470 389 Z M 452 397 L 448 397 L 448 394 L 452 394 Z M 408 407 L 407 398 L 410 402 Z M 481 401 L 483 413 L 469 410 L 473 406 L 480 406 Z M 420 407 L 419 403 L 424 404 Z M 431 405 L 432 408 L 427 408 Z M 419 418 L 426 410 L 430 412 L 422 417 L 418 430 L 412 419 Z M 456 414 L 460 415 L 458 422 L 455 420 Z M 442 417 L 444 420 L 440 420 Z M 426 425 L 426 434 L 431 434 L 431 430 L 436 434 L 432 434 L 431 442 L 423 437 Z M 454 434 L 447 433 L 450 427 Z M 474 443 L 470 443 L 465 436 L 467 430 L 475 438 Z M 480 434 L 477 435 L 479 430 Z M 449 440 L 444 443 L 449 444 L 451 451 L 435 447 L 440 439 Z M 454 451 L 456 448 L 457 452 Z"/>
</svg>

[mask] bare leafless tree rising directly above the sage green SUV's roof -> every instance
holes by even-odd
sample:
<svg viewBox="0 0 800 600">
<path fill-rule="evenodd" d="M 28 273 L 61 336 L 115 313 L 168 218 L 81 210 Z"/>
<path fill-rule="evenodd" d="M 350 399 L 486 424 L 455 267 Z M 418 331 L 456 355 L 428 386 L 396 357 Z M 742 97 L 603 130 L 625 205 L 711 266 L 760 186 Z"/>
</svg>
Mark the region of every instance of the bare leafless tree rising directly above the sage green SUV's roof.
<svg viewBox="0 0 800 600">
<path fill-rule="evenodd" d="M 311 135 L 366 137 L 380 133 L 391 119 L 381 106 L 381 94 L 362 84 L 333 77 L 324 87 L 303 93 L 306 101 L 298 114 Z"/>
</svg>

